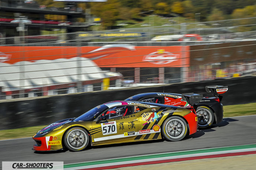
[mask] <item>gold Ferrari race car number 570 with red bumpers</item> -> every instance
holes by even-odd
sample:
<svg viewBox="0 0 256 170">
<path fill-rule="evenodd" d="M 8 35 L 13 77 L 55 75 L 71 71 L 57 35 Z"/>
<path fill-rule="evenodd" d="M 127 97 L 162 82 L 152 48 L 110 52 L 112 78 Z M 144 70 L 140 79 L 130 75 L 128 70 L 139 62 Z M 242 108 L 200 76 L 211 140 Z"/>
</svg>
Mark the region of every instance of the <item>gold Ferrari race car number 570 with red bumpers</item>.
<svg viewBox="0 0 256 170">
<path fill-rule="evenodd" d="M 200 95 L 185 95 L 193 104 Z M 193 98 L 193 99 L 192 99 Z M 77 118 L 57 121 L 34 136 L 35 151 L 84 150 L 91 146 L 156 140 L 178 141 L 196 133 L 193 107 L 176 107 L 139 101 L 112 101 L 101 104 Z"/>
</svg>

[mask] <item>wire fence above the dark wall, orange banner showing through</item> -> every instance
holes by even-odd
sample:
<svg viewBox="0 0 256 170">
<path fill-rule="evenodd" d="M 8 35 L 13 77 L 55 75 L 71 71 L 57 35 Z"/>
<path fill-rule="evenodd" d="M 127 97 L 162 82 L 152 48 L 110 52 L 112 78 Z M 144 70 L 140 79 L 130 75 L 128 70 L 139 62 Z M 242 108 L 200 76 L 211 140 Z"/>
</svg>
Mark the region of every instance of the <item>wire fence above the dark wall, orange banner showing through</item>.
<svg viewBox="0 0 256 170">
<path fill-rule="evenodd" d="M 0 99 L 255 76 L 255 24 L 253 17 L 1 37 Z"/>
</svg>

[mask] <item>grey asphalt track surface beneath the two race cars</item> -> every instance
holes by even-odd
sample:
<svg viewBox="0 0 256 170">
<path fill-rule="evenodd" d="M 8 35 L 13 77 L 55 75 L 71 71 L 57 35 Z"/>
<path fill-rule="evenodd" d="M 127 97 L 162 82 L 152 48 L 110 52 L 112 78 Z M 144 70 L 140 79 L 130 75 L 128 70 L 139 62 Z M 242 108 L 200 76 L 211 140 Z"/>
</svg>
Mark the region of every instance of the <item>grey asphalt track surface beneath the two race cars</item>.
<svg viewBox="0 0 256 170">
<path fill-rule="evenodd" d="M 32 138 L 0 141 L 0 169 L 2 161 L 64 161 L 64 164 L 113 159 L 173 151 L 207 149 L 256 143 L 256 115 L 224 118 L 210 129 L 181 141 L 151 140 L 124 144 L 88 147 L 84 151 L 33 151 Z"/>
</svg>

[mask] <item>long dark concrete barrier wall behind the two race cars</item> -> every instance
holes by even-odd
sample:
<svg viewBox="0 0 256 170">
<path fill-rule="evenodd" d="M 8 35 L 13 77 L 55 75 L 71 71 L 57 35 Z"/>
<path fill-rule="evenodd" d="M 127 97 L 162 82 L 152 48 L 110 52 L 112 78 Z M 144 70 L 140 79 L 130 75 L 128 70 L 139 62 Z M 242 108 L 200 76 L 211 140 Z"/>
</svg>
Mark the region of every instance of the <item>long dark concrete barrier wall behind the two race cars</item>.
<svg viewBox="0 0 256 170">
<path fill-rule="evenodd" d="M 229 86 L 228 91 L 223 94 L 223 105 L 256 103 L 255 84 L 256 77 L 238 77 L 51 97 L 31 97 L 25 100 L 24 98 L 1 100 L 0 130 L 51 124 L 61 119 L 78 117 L 99 104 L 125 100 L 138 93 L 163 92 L 163 89 L 164 92 L 170 93 L 198 93 L 212 97 L 206 92 L 205 86 L 223 85 Z"/>
</svg>

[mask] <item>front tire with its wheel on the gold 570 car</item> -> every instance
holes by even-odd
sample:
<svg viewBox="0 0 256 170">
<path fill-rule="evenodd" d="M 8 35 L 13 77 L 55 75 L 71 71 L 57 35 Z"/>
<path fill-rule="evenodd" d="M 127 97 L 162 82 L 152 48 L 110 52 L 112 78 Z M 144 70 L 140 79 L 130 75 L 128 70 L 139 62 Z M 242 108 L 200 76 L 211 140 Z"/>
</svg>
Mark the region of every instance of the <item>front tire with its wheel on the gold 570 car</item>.
<svg viewBox="0 0 256 170">
<path fill-rule="evenodd" d="M 90 137 L 83 127 L 72 127 L 66 131 L 64 144 L 70 151 L 82 151 L 89 143 Z"/>
</svg>

